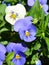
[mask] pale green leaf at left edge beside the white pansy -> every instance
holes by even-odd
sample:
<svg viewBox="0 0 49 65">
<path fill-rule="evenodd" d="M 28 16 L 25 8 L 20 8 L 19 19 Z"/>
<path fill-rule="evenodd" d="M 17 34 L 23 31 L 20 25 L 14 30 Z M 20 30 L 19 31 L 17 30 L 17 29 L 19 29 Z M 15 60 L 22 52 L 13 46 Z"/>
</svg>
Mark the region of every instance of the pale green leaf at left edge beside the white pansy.
<svg viewBox="0 0 49 65">
<path fill-rule="evenodd" d="M 4 21 L 5 8 L 6 8 L 5 4 L 0 4 L 0 27 L 5 25 Z"/>
</svg>

